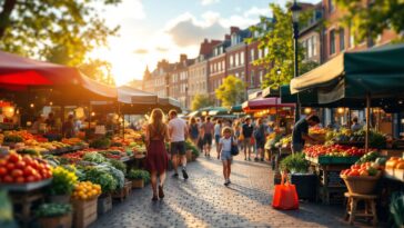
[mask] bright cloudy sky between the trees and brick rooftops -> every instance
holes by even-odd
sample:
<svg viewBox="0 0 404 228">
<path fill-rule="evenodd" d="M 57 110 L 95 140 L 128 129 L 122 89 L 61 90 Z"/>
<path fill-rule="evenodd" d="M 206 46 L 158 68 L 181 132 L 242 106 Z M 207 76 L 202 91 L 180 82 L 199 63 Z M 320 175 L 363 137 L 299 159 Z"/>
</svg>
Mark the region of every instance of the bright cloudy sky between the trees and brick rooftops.
<svg viewBox="0 0 404 228">
<path fill-rule="evenodd" d="M 179 60 L 181 53 L 195 58 L 204 38 L 223 39 L 231 26 L 248 28 L 271 17 L 270 2 L 287 0 L 122 0 L 117 7 L 97 7 L 110 27 L 120 26 L 109 47 L 98 48 L 91 58 L 112 63 L 118 86 L 142 79 L 145 67 Z M 319 2 L 320 0 L 305 0 Z"/>
</svg>

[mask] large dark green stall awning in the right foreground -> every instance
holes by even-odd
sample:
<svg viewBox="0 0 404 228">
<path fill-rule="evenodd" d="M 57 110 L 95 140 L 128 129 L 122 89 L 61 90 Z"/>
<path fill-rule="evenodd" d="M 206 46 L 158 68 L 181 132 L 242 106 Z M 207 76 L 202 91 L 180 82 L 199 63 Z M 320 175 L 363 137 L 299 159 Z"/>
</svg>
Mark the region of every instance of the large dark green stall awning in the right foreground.
<svg viewBox="0 0 404 228">
<path fill-rule="evenodd" d="M 404 44 L 343 52 L 316 69 L 292 79 L 291 92 L 311 90 L 319 103 L 341 99 L 404 98 Z"/>
</svg>

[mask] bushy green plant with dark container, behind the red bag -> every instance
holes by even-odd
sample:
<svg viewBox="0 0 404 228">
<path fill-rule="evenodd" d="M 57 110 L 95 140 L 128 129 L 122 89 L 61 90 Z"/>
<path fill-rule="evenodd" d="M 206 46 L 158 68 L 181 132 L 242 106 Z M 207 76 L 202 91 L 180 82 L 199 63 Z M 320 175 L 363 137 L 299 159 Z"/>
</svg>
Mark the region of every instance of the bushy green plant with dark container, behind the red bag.
<svg viewBox="0 0 404 228">
<path fill-rule="evenodd" d="M 314 174 L 309 174 L 309 161 L 303 152 L 287 156 L 281 161 L 281 170 L 290 172 L 290 179 L 296 187 L 300 199 L 315 199 L 317 178 Z"/>
</svg>

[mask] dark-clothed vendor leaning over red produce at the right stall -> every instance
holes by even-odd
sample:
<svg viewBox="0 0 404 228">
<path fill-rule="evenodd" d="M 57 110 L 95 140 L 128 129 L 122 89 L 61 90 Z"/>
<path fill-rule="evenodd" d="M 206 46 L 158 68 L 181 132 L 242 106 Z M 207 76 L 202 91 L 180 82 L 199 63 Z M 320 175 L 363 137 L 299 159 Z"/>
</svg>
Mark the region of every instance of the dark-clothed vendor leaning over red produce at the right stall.
<svg viewBox="0 0 404 228">
<path fill-rule="evenodd" d="M 299 120 L 292 132 L 292 152 L 301 152 L 306 140 L 316 142 L 317 140 L 309 136 L 309 126 L 314 127 L 320 123 L 317 116 L 311 115 L 304 119 Z"/>
</svg>

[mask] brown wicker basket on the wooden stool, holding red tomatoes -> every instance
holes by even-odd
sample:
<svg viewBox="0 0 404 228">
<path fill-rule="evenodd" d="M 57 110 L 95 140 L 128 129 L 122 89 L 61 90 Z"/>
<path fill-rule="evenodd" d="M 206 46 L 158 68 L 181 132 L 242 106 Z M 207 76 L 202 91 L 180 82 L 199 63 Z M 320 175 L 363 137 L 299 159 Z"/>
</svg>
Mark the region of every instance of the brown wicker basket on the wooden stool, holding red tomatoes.
<svg viewBox="0 0 404 228">
<path fill-rule="evenodd" d="M 341 176 L 341 178 L 345 181 L 350 194 L 371 195 L 376 189 L 380 176 Z"/>
</svg>

